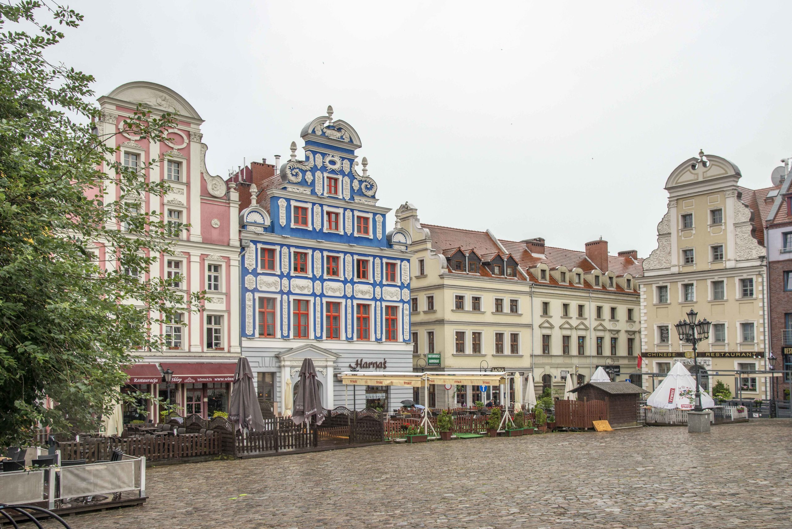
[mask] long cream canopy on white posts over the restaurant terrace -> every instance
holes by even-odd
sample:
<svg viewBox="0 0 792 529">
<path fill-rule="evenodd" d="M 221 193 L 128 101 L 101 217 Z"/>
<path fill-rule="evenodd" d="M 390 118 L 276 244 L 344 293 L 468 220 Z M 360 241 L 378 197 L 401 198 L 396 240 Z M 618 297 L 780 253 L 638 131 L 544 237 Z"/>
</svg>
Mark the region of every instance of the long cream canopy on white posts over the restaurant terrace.
<svg viewBox="0 0 792 529">
<path fill-rule="evenodd" d="M 459 384 L 459 385 L 478 385 L 478 386 L 500 386 L 506 382 L 507 377 L 511 377 L 511 373 L 467 373 L 453 371 L 439 371 L 432 372 L 426 371 L 424 373 L 415 373 L 413 371 L 390 372 L 390 373 L 361 373 L 360 371 L 345 371 L 340 373 L 338 377 L 341 379 L 342 384 L 350 384 L 354 386 L 406 386 L 406 387 L 423 387 L 425 388 L 426 400 L 428 403 L 429 386 L 432 384 Z M 424 409 L 424 418 L 421 421 L 421 426 L 425 428 L 428 433 L 429 429 L 435 432 L 434 426 L 429 421 L 429 410 Z M 508 405 L 506 406 L 506 413 L 504 420 L 508 415 Z M 503 421 L 501 421 L 503 422 Z"/>
</svg>

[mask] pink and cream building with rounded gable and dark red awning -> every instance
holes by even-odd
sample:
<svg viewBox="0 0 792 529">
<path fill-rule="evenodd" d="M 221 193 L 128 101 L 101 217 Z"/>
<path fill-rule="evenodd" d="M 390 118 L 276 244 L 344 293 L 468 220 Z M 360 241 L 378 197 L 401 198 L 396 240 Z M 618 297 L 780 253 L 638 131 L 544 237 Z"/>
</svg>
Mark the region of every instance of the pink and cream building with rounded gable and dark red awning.
<svg viewBox="0 0 792 529">
<path fill-rule="evenodd" d="M 166 196 L 143 196 L 141 211 L 154 211 L 165 219 L 191 226 L 175 240 L 173 253 L 159 255 L 148 270 L 124 270 L 133 276 L 180 277 L 177 289 L 185 292 L 207 291 L 199 312 L 185 312 L 168 324 L 158 325 L 155 333 L 166 335 L 162 351 L 135 351 L 142 360 L 128 370 L 124 391 L 142 391 L 162 398 L 167 390 L 162 372 L 173 371 L 171 400 L 183 413 L 211 417 L 226 412 L 239 348 L 239 239 L 238 196 L 235 186 L 206 168 L 207 145 L 202 142 L 201 119 L 196 109 L 178 93 L 152 82 L 129 82 L 99 98 L 101 120 L 97 134 L 108 135 L 111 147 L 119 147 L 116 162 L 138 169 L 152 183 L 167 181 Z M 163 143 L 138 139 L 121 131 L 138 104 L 154 116 L 175 112 L 177 124 L 167 131 Z M 148 167 L 152 159 L 161 163 Z M 105 190 L 105 204 L 119 200 L 116 186 Z M 117 226 L 123 230 L 124 226 Z M 112 263 L 105 247 L 97 244 L 97 257 Z M 158 314 L 151 314 L 157 318 Z M 147 415 L 134 408 L 124 410 L 124 422 L 135 419 L 156 421 L 158 409 L 149 405 Z"/>
</svg>

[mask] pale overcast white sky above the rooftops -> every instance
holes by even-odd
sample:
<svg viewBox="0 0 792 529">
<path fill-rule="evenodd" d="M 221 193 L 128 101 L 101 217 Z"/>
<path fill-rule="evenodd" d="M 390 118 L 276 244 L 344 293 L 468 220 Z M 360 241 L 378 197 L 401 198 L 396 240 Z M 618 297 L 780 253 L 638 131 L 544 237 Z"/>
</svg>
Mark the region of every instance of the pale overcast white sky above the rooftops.
<svg viewBox="0 0 792 529">
<path fill-rule="evenodd" d="M 97 97 L 141 80 L 180 93 L 212 173 L 287 157 L 333 105 L 379 205 L 409 201 L 423 223 L 648 257 L 664 183 L 699 149 L 748 188 L 792 155 L 792 2 L 70 7 L 85 21 L 49 58 L 93 74 Z"/>
</svg>

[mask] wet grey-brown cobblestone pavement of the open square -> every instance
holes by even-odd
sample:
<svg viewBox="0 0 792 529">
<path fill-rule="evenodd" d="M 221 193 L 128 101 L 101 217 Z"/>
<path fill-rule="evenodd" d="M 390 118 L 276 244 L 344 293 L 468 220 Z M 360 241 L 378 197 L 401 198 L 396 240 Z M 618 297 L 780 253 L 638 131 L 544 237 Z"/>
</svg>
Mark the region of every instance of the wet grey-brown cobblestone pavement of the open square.
<svg viewBox="0 0 792 529">
<path fill-rule="evenodd" d="M 147 472 L 147 504 L 70 523 L 788 528 L 790 437 L 790 421 L 756 420 L 710 434 L 648 427 L 162 466 Z"/>
</svg>

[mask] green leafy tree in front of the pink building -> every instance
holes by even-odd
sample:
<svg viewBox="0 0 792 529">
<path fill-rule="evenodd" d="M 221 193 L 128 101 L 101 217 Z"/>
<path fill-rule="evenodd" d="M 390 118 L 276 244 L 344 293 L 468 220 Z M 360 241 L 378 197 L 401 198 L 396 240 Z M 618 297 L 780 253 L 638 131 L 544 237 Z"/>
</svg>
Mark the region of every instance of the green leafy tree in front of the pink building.
<svg viewBox="0 0 792 529">
<path fill-rule="evenodd" d="M 0 4 L 0 446 L 38 425 L 97 428 L 128 351 L 161 348 L 153 325 L 203 299 L 169 289 L 178 278 L 145 279 L 188 226 L 139 206 L 168 189 L 143 177 L 160 161 L 116 162 L 98 135 L 93 77 L 45 59 L 64 35 L 40 16 L 64 31 L 82 21 L 48 2 Z M 138 108 L 123 128 L 162 141 L 172 125 Z"/>
</svg>

